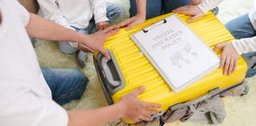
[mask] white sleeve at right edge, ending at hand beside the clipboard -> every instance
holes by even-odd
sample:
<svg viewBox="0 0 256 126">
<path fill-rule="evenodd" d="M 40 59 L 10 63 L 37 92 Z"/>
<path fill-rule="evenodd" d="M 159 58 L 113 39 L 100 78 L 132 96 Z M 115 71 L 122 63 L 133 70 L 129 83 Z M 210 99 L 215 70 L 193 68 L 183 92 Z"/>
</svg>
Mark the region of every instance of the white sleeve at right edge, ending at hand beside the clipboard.
<svg viewBox="0 0 256 126">
<path fill-rule="evenodd" d="M 232 41 L 232 45 L 239 55 L 242 53 L 256 52 L 256 37 L 234 40 Z"/>
</svg>

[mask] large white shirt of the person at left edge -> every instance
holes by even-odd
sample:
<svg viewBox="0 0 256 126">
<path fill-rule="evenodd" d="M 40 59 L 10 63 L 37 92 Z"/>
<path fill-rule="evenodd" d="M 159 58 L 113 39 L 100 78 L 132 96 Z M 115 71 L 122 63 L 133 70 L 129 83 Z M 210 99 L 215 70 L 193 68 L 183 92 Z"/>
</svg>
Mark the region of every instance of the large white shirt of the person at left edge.
<svg viewBox="0 0 256 126">
<path fill-rule="evenodd" d="M 16 0 L 0 0 L 0 13 L 0 125 L 66 126 L 26 33 L 29 13 Z"/>
</svg>

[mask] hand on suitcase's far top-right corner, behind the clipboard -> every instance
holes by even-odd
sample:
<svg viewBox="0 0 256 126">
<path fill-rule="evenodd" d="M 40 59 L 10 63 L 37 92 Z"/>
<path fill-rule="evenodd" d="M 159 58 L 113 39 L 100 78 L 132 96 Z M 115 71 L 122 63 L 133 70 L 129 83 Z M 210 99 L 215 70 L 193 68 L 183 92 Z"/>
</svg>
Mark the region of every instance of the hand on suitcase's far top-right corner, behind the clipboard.
<svg viewBox="0 0 256 126">
<path fill-rule="evenodd" d="M 202 18 L 202 16 L 205 15 L 198 6 L 194 5 L 179 7 L 178 9 L 173 10 L 173 13 L 191 15 L 192 18 L 190 18 L 188 22 L 193 22 L 194 20 Z"/>
</svg>

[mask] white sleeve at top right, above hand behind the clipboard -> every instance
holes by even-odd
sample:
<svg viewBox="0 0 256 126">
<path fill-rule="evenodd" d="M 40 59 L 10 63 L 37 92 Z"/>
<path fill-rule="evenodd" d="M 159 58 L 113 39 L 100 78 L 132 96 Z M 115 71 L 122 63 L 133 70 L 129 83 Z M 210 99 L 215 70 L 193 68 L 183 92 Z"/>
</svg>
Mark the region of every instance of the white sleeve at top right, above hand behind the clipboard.
<svg viewBox="0 0 256 126">
<path fill-rule="evenodd" d="M 204 0 L 198 5 L 198 7 L 204 14 L 207 14 L 209 10 L 214 9 L 214 7 L 218 6 L 222 1 L 223 0 Z"/>
</svg>

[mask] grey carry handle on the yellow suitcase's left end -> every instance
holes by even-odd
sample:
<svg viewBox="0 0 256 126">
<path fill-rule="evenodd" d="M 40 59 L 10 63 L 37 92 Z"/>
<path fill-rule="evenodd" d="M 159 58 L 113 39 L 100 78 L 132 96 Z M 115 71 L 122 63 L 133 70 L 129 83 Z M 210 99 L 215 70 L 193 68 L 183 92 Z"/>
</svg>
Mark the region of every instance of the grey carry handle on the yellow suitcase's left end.
<svg viewBox="0 0 256 126">
<path fill-rule="evenodd" d="M 115 81 L 114 77 L 110 71 L 110 67 L 108 66 L 108 61 L 106 57 L 102 57 L 102 73 L 104 74 L 104 76 L 106 77 L 106 81 L 110 83 L 110 85 L 117 87 L 120 85 L 119 81 Z"/>
</svg>

